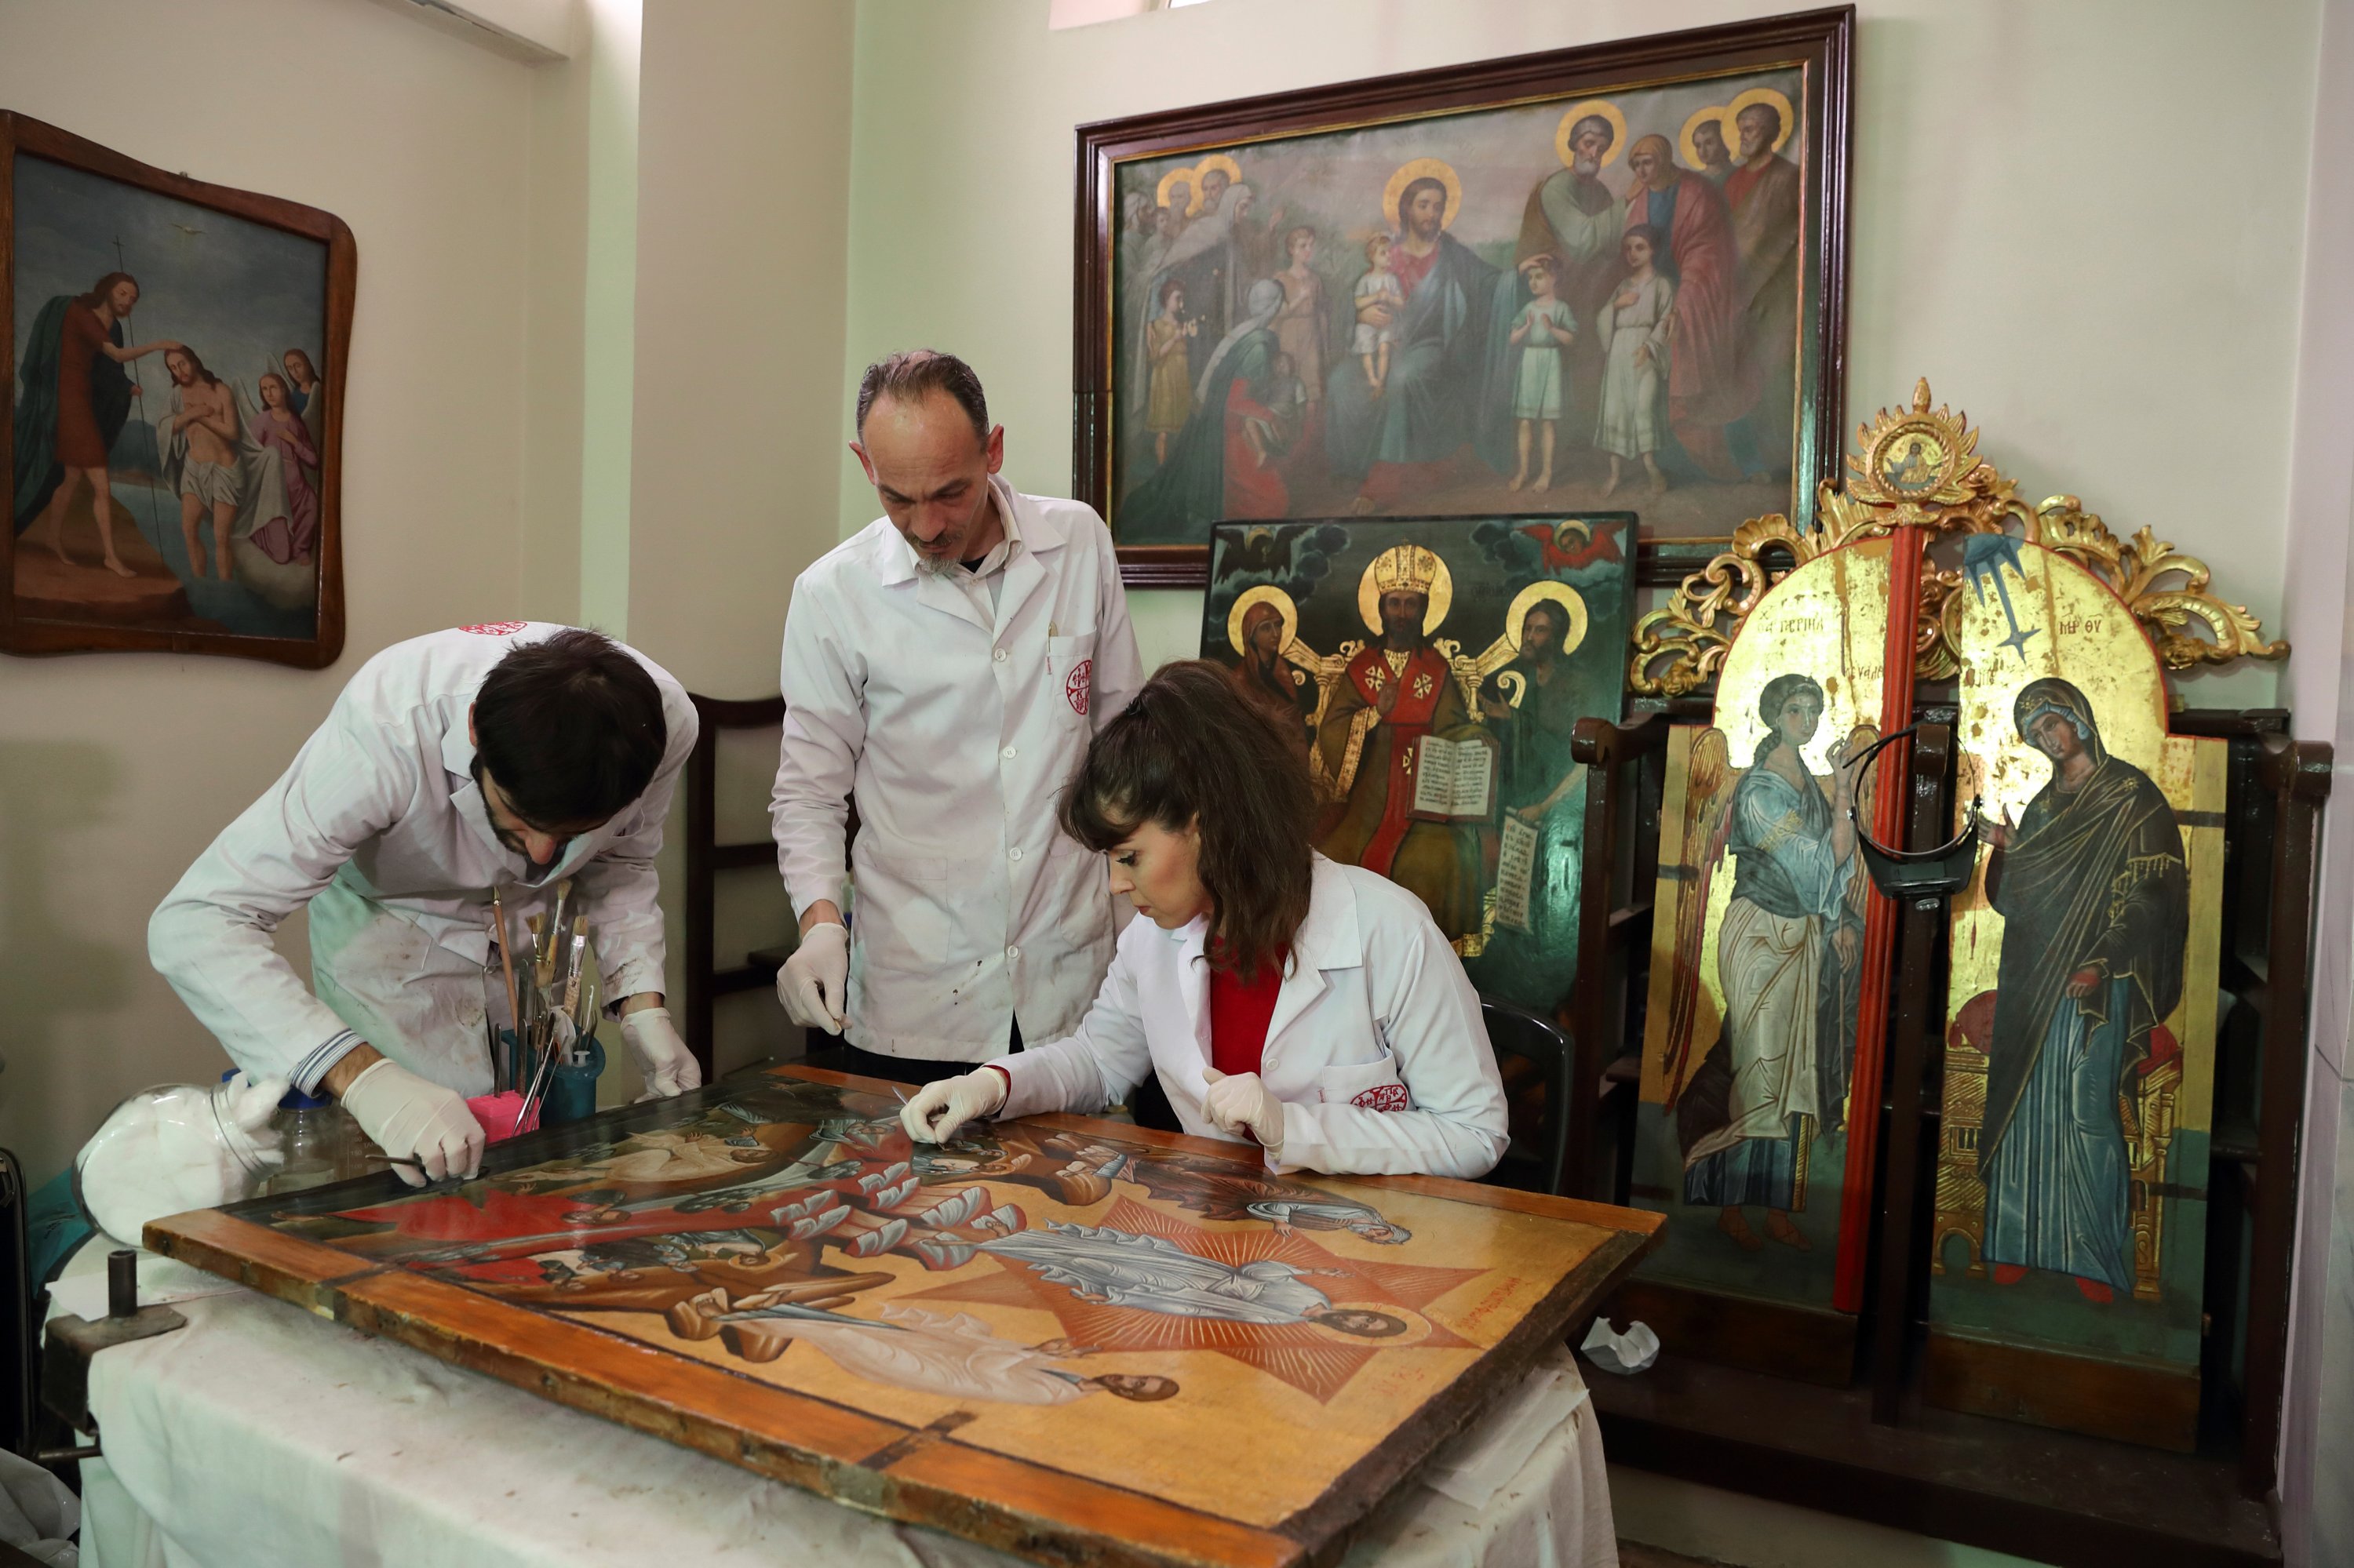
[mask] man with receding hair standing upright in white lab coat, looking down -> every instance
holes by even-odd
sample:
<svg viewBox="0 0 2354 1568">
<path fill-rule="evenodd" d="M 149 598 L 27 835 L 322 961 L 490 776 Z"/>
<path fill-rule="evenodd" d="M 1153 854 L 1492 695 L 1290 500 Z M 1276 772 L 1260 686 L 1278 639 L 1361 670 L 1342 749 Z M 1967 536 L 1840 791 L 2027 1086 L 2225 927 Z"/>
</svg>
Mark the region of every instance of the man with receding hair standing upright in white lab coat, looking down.
<svg viewBox="0 0 2354 1568">
<path fill-rule="evenodd" d="M 1055 803 L 1144 671 L 1111 532 L 998 478 L 1005 428 L 963 360 L 871 365 L 857 428 L 885 516 L 800 574 L 784 619 L 770 817 L 800 949 L 777 994 L 847 1038 L 826 1064 L 930 1083 L 1071 1034 L 1095 998 L 1109 883 Z"/>
</svg>

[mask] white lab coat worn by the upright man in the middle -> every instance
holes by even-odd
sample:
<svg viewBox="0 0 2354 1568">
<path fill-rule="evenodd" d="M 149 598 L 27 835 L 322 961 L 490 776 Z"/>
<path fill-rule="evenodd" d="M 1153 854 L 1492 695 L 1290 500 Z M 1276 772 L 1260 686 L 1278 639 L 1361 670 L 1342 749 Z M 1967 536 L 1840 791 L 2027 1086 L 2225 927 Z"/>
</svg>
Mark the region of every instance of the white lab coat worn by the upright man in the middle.
<svg viewBox="0 0 2354 1568">
<path fill-rule="evenodd" d="M 993 614 L 876 518 L 784 619 L 777 869 L 796 916 L 847 871 L 843 1034 L 880 1055 L 986 1062 L 1017 1015 L 1024 1038 L 1071 1034 L 1111 963 L 1102 859 L 1055 808 L 1144 683 L 1121 567 L 1090 506 L 991 490 L 1019 534 Z"/>
</svg>

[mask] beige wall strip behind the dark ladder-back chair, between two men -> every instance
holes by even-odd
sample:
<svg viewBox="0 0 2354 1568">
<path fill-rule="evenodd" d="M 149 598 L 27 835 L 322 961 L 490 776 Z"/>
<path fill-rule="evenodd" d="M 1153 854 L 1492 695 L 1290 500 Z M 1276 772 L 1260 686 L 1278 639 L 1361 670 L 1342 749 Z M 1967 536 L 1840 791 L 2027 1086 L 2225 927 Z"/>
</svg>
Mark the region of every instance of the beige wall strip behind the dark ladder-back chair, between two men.
<svg viewBox="0 0 2354 1568">
<path fill-rule="evenodd" d="M 777 692 L 793 574 L 833 546 L 850 45 L 836 0 L 645 9 L 629 640 L 709 697 Z M 774 770 L 774 735 L 723 744 L 723 841 L 767 836 Z M 683 810 L 671 829 L 676 994 Z M 793 932 L 774 873 L 723 876 L 716 904 L 723 965 Z M 767 991 L 723 998 L 713 1036 L 720 1069 L 789 1038 Z"/>
</svg>

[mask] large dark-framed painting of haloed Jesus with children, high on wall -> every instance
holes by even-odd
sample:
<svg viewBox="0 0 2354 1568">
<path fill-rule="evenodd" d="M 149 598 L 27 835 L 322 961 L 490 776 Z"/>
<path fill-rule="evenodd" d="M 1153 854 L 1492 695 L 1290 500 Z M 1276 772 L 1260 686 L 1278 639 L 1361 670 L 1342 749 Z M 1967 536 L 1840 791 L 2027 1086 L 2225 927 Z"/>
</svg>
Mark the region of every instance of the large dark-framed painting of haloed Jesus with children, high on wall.
<svg viewBox="0 0 2354 1568">
<path fill-rule="evenodd" d="M 1130 582 L 1222 518 L 1641 511 L 1704 558 L 1834 473 L 1853 7 L 1078 129 L 1078 494 Z"/>
</svg>

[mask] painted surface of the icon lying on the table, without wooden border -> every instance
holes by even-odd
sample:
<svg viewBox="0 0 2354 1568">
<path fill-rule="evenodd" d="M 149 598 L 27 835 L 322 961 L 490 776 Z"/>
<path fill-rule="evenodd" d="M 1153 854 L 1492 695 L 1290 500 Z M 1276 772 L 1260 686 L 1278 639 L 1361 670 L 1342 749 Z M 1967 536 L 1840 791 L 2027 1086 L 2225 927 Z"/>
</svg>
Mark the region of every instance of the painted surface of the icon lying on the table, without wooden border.
<svg viewBox="0 0 2354 1568">
<path fill-rule="evenodd" d="M 454 1191 L 294 1198 L 271 1224 L 1255 1526 L 1314 1504 L 1605 1238 L 1095 1130 L 911 1144 L 897 1111 L 777 1078 Z M 1233 1453 L 1238 1410 L 1285 1464 Z"/>
</svg>

